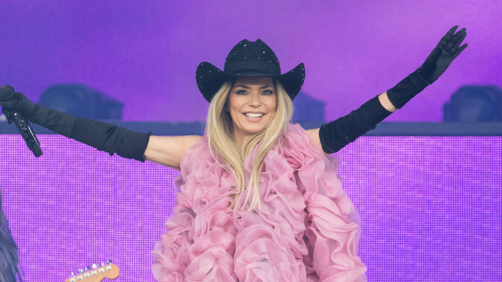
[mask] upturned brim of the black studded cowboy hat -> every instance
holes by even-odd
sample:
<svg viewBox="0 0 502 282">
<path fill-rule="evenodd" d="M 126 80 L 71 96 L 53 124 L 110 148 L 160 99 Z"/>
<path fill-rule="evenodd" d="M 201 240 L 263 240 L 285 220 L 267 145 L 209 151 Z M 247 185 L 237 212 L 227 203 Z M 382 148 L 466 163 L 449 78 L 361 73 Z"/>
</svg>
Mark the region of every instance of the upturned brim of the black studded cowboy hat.
<svg viewBox="0 0 502 282">
<path fill-rule="evenodd" d="M 259 77 L 272 77 L 281 82 L 284 90 L 288 93 L 291 100 L 293 100 L 305 81 L 305 66 L 303 63 L 298 64 L 292 70 L 279 76 L 273 76 L 265 73 L 246 72 L 245 76 L 259 76 Z M 221 85 L 229 78 L 241 77 L 240 75 L 231 75 L 220 70 L 209 62 L 202 62 L 195 71 L 195 80 L 202 96 L 211 102 L 216 91 L 219 90 Z"/>
</svg>

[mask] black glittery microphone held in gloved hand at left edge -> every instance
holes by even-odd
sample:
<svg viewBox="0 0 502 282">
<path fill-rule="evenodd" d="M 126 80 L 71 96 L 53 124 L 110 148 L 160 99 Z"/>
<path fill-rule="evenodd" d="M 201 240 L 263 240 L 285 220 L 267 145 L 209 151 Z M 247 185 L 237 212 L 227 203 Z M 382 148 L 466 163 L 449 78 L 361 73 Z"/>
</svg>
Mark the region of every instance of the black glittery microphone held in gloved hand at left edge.
<svg viewBox="0 0 502 282">
<path fill-rule="evenodd" d="M 14 88 L 11 85 L 0 86 L 0 101 L 13 101 L 15 99 L 14 93 Z M 11 110 L 11 112 L 12 119 L 14 120 L 14 123 L 16 123 L 21 136 L 23 136 L 23 139 L 25 139 L 28 149 L 33 152 L 33 155 L 35 155 L 35 157 L 38 158 L 42 156 L 43 153 L 42 149 L 40 149 L 40 142 L 38 142 L 37 136 L 35 135 L 35 133 L 33 133 L 28 120 L 26 120 L 26 118 L 16 110 Z"/>
</svg>

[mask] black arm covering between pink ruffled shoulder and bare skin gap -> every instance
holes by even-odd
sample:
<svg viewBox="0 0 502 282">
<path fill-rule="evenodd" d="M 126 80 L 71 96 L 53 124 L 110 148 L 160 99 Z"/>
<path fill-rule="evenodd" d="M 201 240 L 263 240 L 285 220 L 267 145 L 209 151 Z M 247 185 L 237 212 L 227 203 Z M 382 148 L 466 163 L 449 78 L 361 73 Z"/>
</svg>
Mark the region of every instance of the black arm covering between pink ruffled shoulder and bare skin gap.
<svg viewBox="0 0 502 282">
<path fill-rule="evenodd" d="M 374 129 L 377 123 L 391 113 L 382 105 L 379 95 L 376 95 L 349 114 L 321 125 L 319 139 L 322 150 L 328 154 L 340 151 L 357 137 Z"/>
</svg>

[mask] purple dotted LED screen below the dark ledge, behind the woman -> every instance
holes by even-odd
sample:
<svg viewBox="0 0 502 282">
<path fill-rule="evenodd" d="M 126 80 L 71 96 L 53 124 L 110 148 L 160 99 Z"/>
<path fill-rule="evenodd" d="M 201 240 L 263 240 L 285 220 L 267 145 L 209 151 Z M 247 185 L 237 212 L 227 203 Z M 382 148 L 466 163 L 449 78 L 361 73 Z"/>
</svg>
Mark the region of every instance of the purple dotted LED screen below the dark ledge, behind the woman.
<svg viewBox="0 0 502 282">
<path fill-rule="evenodd" d="M 27 281 L 105 259 L 116 281 L 153 281 L 178 171 L 41 134 L 35 158 L 0 135 L 0 188 Z M 361 136 L 336 153 L 361 217 L 368 281 L 502 280 L 502 137 Z"/>
</svg>

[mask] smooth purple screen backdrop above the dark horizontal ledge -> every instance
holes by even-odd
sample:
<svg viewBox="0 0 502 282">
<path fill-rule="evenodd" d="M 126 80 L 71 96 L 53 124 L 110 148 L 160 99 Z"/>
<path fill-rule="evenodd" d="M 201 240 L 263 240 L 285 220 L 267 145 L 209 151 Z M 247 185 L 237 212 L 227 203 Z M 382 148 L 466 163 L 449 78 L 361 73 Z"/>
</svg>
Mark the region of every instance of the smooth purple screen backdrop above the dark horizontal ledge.
<svg viewBox="0 0 502 282">
<path fill-rule="evenodd" d="M 300 95 L 331 121 L 395 86 L 459 25 L 467 49 L 386 118 L 437 122 L 460 87 L 502 87 L 500 15 L 495 0 L 2 0 L 0 84 L 37 102 L 53 84 L 83 83 L 123 103 L 123 120 L 203 121 L 198 64 L 223 69 L 235 44 L 260 38 L 283 73 L 305 64 Z"/>
</svg>

